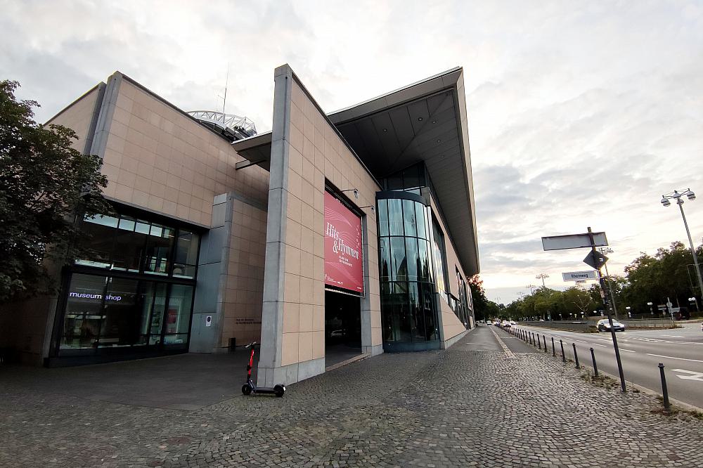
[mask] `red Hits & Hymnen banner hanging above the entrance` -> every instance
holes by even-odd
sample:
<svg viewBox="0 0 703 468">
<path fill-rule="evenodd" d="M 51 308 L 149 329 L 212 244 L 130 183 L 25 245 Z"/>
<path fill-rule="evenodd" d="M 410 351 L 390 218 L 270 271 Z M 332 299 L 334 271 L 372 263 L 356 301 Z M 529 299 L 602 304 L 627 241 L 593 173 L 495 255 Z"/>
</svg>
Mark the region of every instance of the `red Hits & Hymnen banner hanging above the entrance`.
<svg viewBox="0 0 703 468">
<path fill-rule="evenodd" d="M 361 218 L 325 192 L 325 285 L 363 293 Z"/>
</svg>

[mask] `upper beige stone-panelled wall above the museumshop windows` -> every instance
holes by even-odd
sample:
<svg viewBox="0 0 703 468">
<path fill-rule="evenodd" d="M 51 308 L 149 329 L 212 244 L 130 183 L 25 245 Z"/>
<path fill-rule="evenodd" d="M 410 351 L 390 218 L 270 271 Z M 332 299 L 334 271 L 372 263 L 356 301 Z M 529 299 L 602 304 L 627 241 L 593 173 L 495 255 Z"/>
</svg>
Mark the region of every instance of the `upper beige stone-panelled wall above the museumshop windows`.
<svg viewBox="0 0 703 468">
<path fill-rule="evenodd" d="M 128 79 L 120 82 L 103 157 L 105 195 L 209 226 L 215 195 L 266 203 L 269 173 L 242 171 L 230 143 Z"/>
</svg>

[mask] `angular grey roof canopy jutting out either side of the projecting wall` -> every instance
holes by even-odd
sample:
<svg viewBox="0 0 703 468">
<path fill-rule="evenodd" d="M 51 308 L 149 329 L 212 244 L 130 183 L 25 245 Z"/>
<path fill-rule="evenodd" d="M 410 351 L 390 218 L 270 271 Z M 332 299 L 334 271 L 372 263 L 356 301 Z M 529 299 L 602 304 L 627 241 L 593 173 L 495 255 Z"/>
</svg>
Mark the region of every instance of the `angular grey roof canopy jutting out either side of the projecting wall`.
<svg viewBox="0 0 703 468">
<path fill-rule="evenodd" d="M 328 118 L 376 178 L 425 162 L 460 264 L 467 275 L 479 273 L 463 69 L 337 110 Z M 232 145 L 252 164 L 269 169 L 271 132 Z"/>
</svg>

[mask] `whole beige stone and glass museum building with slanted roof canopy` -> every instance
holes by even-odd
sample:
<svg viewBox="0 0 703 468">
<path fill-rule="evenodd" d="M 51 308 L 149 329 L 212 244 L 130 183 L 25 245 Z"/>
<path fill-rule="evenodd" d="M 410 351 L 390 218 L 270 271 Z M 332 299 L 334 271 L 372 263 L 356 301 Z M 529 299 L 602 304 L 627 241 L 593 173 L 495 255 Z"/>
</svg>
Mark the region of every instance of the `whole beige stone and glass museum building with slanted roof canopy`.
<svg viewBox="0 0 703 468">
<path fill-rule="evenodd" d="M 120 72 L 48 123 L 98 155 L 114 212 L 58 293 L 3 306 L 0 348 L 81 365 L 261 342 L 259 384 L 475 326 L 463 70 L 327 114 L 288 65 L 272 130 L 184 112 Z"/>
</svg>

